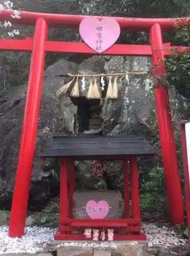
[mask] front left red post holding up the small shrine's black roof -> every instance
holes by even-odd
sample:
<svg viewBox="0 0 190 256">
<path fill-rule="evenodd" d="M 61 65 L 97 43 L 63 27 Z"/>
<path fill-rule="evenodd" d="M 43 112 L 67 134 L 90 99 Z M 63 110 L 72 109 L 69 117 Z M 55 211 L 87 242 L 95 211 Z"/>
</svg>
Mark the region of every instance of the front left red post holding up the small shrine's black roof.
<svg viewBox="0 0 190 256">
<path fill-rule="evenodd" d="M 60 205 L 59 219 L 68 218 L 68 161 L 66 157 L 60 161 Z"/>
</svg>

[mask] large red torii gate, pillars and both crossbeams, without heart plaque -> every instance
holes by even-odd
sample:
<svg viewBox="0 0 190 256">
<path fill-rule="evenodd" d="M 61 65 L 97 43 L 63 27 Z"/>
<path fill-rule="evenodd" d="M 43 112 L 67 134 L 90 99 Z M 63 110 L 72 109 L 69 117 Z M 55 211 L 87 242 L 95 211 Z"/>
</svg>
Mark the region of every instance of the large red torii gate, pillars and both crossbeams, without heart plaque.
<svg viewBox="0 0 190 256">
<path fill-rule="evenodd" d="M 11 21 L 22 25 L 35 26 L 33 38 L 0 39 L 0 50 L 31 51 L 31 66 L 28 82 L 27 101 L 23 119 L 18 166 L 12 201 L 9 236 L 21 237 L 27 217 L 30 177 L 34 156 L 42 79 L 44 74 L 45 52 L 62 52 L 78 54 L 98 54 L 84 43 L 47 41 L 48 27 L 79 28 L 84 18 L 81 15 L 64 15 L 49 13 L 20 12 L 21 19 L 13 19 L 11 10 L 1 10 L 0 21 Z M 103 19 L 104 17 L 97 17 Z M 148 31 L 150 45 L 113 45 L 99 55 L 133 55 L 150 56 L 154 75 L 164 75 L 163 58 L 171 54 L 169 43 L 162 43 L 162 31 L 174 29 L 174 23 L 190 26 L 180 19 L 136 19 L 113 18 L 121 29 L 132 31 Z M 190 47 L 182 47 L 189 50 Z M 155 81 L 156 83 L 156 81 Z M 157 84 L 155 84 L 157 85 Z M 183 198 L 178 173 L 178 161 L 172 130 L 168 91 L 162 86 L 154 88 L 156 110 L 158 115 L 159 136 L 165 171 L 168 209 L 172 223 L 182 223 L 184 219 Z M 177 205 L 177 207 L 176 207 Z"/>
</svg>

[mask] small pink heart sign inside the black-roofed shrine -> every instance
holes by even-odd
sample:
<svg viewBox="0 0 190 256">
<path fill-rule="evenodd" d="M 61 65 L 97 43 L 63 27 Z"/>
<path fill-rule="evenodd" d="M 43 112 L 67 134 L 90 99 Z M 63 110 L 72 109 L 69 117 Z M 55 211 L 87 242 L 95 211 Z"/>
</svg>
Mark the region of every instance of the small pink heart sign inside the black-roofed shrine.
<svg viewBox="0 0 190 256">
<path fill-rule="evenodd" d="M 91 219 L 103 219 L 109 212 L 109 204 L 106 201 L 89 201 L 85 205 L 85 210 Z"/>
</svg>

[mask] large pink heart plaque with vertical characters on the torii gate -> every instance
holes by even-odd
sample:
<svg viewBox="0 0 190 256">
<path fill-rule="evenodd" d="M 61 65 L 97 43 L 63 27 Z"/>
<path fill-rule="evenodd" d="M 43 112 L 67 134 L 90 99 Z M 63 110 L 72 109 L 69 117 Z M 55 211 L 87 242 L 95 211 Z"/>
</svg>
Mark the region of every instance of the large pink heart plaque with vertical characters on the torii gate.
<svg viewBox="0 0 190 256">
<path fill-rule="evenodd" d="M 113 45 L 119 35 L 120 27 L 114 18 L 99 21 L 94 17 L 84 18 L 79 27 L 83 41 L 96 52 L 104 52 Z"/>
</svg>

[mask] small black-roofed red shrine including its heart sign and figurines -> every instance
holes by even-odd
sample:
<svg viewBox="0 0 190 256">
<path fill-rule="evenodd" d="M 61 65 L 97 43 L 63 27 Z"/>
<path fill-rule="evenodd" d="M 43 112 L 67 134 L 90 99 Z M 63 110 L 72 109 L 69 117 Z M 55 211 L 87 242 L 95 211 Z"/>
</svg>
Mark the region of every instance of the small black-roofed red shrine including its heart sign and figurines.
<svg viewBox="0 0 190 256">
<path fill-rule="evenodd" d="M 61 158 L 59 226 L 55 239 L 146 241 L 141 231 L 137 157 L 156 154 L 144 137 L 135 135 L 54 136 L 40 156 Z M 75 192 L 74 161 L 79 159 L 123 161 L 124 216 L 118 191 Z"/>
</svg>

